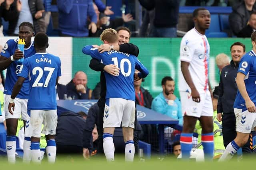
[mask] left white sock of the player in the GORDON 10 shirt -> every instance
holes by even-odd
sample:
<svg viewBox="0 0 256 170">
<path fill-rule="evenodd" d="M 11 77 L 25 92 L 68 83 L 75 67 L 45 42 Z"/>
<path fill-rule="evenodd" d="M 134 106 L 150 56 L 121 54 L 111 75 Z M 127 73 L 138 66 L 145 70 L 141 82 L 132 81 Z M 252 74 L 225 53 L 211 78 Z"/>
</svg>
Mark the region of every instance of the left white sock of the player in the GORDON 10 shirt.
<svg viewBox="0 0 256 170">
<path fill-rule="evenodd" d="M 103 150 L 108 161 L 114 161 L 115 146 L 113 137 L 103 138 Z"/>
</svg>

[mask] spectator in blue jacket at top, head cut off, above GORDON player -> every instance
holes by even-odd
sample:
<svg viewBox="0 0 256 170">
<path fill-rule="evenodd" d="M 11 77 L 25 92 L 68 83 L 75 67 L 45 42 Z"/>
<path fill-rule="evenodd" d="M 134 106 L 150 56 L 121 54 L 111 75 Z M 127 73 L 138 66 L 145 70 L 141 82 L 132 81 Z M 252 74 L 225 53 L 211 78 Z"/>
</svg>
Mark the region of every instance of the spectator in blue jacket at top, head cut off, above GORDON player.
<svg viewBox="0 0 256 170">
<path fill-rule="evenodd" d="M 58 0 L 60 36 L 87 37 L 97 30 L 97 15 L 92 0 Z M 87 17 L 90 25 L 87 25 Z"/>
</svg>

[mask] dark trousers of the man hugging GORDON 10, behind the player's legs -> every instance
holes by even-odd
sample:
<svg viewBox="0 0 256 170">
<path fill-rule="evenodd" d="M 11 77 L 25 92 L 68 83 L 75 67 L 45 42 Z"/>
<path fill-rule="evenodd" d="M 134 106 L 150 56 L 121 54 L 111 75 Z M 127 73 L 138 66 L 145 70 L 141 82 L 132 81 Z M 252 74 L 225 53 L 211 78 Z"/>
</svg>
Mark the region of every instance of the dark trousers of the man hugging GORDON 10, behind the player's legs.
<svg viewBox="0 0 256 170">
<path fill-rule="evenodd" d="M 103 153 L 103 121 L 104 121 L 104 108 L 105 108 L 106 100 L 100 98 L 98 100 L 99 106 L 99 116 L 98 116 L 98 134 L 99 134 L 99 151 L 98 153 Z M 139 149 L 139 141 L 138 141 L 138 133 L 137 133 L 137 109 L 135 110 L 135 122 L 134 122 L 134 147 L 135 147 L 135 154 L 138 153 Z"/>
</svg>

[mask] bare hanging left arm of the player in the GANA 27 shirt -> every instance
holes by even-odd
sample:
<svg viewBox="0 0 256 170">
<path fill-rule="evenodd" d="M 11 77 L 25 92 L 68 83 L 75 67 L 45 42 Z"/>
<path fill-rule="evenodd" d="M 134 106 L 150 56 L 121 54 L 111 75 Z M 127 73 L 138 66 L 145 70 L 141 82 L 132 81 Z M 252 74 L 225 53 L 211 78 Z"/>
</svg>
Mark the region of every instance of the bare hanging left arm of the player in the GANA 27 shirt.
<svg viewBox="0 0 256 170">
<path fill-rule="evenodd" d="M 22 84 L 23 82 L 26 80 L 26 78 L 24 77 L 19 77 L 16 84 L 14 85 L 13 87 L 13 90 L 12 90 L 12 96 L 11 96 L 11 99 L 9 101 L 9 106 L 8 106 L 8 110 L 9 112 L 13 115 L 13 112 L 14 111 L 14 99 L 16 98 L 16 96 L 19 94 L 20 92 L 20 89 L 22 88 Z"/>
</svg>

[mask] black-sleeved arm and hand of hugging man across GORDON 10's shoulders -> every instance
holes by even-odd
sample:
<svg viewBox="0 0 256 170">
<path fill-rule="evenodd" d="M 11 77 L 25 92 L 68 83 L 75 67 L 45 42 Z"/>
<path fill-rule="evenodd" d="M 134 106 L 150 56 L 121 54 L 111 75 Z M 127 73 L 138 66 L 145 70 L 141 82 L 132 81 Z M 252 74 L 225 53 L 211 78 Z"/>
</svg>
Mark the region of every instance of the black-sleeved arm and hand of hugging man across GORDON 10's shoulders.
<svg viewBox="0 0 256 170">
<path fill-rule="evenodd" d="M 98 51 L 100 53 L 103 53 L 105 51 L 110 51 L 110 50 L 111 49 L 110 49 L 109 44 L 102 44 L 98 48 Z M 139 52 L 140 52 L 139 48 L 136 45 L 132 44 L 132 43 L 113 45 L 113 50 L 120 51 L 120 52 L 127 53 L 127 54 L 131 54 L 131 55 L 135 55 L 136 57 L 138 57 Z"/>
</svg>

